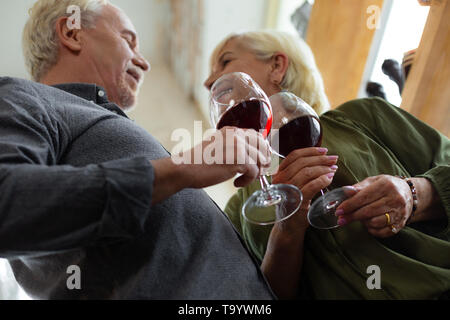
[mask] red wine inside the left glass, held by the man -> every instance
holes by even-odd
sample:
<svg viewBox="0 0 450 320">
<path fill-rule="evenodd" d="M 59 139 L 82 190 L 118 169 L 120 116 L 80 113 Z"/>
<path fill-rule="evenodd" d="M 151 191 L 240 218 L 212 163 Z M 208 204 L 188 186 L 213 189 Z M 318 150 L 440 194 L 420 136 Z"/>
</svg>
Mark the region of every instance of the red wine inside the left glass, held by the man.
<svg viewBox="0 0 450 320">
<path fill-rule="evenodd" d="M 255 129 L 258 132 L 264 129 L 262 134 L 267 137 L 272 127 L 272 113 L 264 101 L 244 101 L 222 115 L 217 123 L 217 129 L 225 126 Z"/>
</svg>

